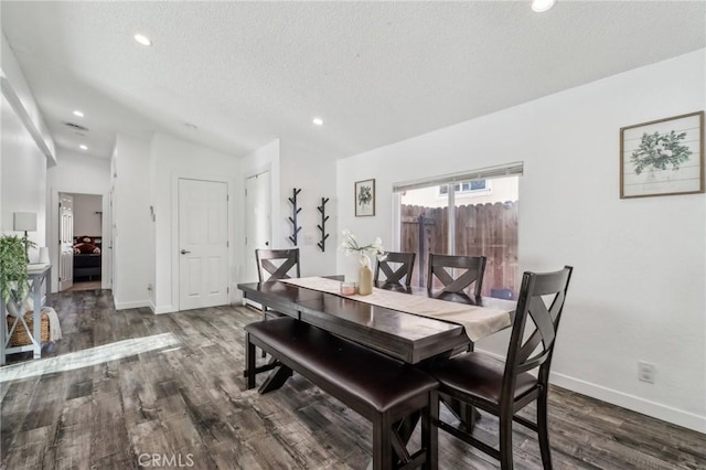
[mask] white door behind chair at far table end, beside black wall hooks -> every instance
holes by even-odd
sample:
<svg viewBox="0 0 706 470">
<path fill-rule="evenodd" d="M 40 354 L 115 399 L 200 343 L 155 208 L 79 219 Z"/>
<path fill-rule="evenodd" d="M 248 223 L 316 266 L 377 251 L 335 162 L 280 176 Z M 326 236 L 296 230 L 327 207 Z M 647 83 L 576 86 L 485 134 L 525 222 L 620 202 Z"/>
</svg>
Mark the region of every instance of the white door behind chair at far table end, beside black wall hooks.
<svg viewBox="0 0 706 470">
<path fill-rule="evenodd" d="M 245 181 L 245 280 L 256 282 L 258 277 L 255 249 L 272 248 L 270 246 L 271 191 L 269 171 L 250 177 Z"/>
</svg>

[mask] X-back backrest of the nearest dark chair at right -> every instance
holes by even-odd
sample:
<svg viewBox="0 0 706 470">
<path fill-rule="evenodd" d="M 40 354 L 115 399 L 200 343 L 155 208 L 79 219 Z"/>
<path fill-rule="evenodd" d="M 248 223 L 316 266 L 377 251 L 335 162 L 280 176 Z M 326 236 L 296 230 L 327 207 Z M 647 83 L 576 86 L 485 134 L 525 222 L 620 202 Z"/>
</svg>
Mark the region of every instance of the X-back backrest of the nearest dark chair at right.
<svg viewBox="0 0 706 470">
<path fill-rule="evenodd" d="M 547 385 L 552 353 L 573 270 L 573 267 L 565 266 L 554 273 L 524 274 L 505 360 L 503 396 L 513 396 L 517 374 L 537 367 L 539 384 Z M 527 329 L 528 319 L 534 325 L 533 331 Z"/>
</svg>

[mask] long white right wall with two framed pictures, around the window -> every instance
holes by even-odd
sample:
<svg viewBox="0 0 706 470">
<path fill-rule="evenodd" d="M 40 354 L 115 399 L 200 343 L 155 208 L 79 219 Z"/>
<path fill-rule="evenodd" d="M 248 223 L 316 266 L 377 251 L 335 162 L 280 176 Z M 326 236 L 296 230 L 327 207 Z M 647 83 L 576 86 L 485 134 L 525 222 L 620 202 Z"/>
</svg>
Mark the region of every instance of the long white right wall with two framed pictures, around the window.
<svg viewBox="0 0 706 470">
<path fill-rule="evenodd" d="M 706 432 L 704 194 L 619 199 L 620 128 L 705 109 L 704 70 L 702 50 L 341 160 L 339 227 L 387 242 L 394 182 L 523 160 L 520 268 L 575 267 L 553 382 Z M 368 178 L 377 215 L 356 218 Z"/>
</svg>

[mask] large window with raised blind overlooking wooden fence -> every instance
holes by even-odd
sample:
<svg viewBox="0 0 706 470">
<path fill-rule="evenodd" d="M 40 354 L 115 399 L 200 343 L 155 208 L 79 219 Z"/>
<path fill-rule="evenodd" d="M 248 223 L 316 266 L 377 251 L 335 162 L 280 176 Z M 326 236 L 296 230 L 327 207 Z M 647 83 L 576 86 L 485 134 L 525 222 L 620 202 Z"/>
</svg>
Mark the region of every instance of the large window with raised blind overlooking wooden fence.
<svg viewBox="0 0 706 470">
<path fill-rule="evenodd" d="M 414 286 L 426 286 L 429 253 L 483 255 L 483 295 L 516 298 L 521 174 L 522 163 L 514 163 L 395 185 L 399 250 L 417 254 Z"/>
</svg>

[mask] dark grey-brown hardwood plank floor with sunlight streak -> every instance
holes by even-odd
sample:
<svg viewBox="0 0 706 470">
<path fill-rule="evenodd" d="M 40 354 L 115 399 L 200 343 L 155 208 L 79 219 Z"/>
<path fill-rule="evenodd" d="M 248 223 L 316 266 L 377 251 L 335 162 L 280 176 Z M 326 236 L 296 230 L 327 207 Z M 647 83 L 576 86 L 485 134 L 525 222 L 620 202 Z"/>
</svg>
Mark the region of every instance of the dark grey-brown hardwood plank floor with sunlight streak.
<svg viewBox="0 0 706 470">
<path fill-rule="evenodd" d="M 256 311 L 115 311 L 108 290 L 53 299 L 64 339 L 0 368 L 0 468 L 366 467 L 370 424 L 301 376 L 245 391 L 243 325 Z M 706 469 L 702 434 L 560 388 L 549 413 L 555 469 Z M 477 432 L 493 438 L 496 423 L 484 415 Z M 498 468 L 439 434 L 440 468 Z M 542 468 L 521 426 L 514 447 L 515 468 Z"/>
</svg>

